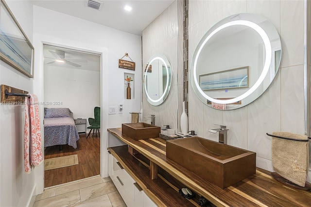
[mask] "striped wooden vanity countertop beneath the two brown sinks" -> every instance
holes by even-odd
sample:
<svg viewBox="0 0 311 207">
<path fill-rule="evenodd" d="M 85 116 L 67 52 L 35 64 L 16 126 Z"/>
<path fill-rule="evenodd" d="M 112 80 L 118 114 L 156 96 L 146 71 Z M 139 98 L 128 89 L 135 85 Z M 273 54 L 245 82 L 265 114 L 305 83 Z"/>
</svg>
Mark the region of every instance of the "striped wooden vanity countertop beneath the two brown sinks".
<svg viewBox="0 0 311 207">
<path fill-rule="evenodd" d="M 108 132 L 136 149 L 215 206 L 311 207 L 310 191 L 284 186 L 271 177 L 271 172 L 257 168 L 256 174 L 226 189 L 221 189 L 182 166 L 167 160 L 165 140 L 161 138 L 134 140 L 122 135 L 121 128 L 108 129 Z"/>
</svg>

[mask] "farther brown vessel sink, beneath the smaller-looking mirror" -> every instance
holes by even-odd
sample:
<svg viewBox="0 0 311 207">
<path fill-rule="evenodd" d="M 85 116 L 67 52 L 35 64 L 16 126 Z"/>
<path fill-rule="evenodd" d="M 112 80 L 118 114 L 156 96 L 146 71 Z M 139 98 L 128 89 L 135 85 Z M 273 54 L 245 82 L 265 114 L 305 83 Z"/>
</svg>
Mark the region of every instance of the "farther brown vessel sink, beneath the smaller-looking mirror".
<svg viewBox="0 0 311 207">
<path fill-rule="evenodd" d="M 159 126 L 149 123 L 122 123 L 122 134 L 135 140 L 158 138 L 160 132 Z"/>
</svg>

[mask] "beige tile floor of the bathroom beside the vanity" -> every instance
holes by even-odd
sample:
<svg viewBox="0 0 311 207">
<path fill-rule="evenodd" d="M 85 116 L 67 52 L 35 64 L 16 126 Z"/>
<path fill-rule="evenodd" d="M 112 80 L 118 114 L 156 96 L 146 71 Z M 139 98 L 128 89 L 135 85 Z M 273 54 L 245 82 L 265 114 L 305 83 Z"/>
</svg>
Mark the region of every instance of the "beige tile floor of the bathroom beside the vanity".
<svg viewBox="0 0 311 207">
<path fill-rule="evenodd" d="M 126 207 L 110 178 L 100 175 L 47 188 L 33 207 Z"/>
</svg>

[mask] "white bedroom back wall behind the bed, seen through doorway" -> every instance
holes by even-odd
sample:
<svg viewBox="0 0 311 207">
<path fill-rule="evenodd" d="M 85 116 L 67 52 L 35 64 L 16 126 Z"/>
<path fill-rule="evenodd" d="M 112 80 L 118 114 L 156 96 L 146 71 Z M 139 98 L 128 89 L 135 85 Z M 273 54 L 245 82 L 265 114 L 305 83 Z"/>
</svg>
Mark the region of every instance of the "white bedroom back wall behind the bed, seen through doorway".
<svg viewBox="0 0 311 207">
<path fill-rule="evenodd" d="M 44 107 L 69 108 L 74 119 L 87 120 L 101 105 L 100 86 L 100 71 L 45 66 L 44 103 L 52 104 Z"/>
</svg>

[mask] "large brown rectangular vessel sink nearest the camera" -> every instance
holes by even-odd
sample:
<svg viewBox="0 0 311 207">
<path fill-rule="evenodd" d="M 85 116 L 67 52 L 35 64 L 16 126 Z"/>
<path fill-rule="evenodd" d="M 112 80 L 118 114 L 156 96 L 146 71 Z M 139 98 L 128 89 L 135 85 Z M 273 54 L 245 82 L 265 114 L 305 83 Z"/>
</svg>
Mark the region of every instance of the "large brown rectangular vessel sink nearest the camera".
<svg viewBox="0 0 311 207">
<path fill-rule="evenodd" d="M 256 173 L 256 153 L 205 138 L 167 141 L 166 158 L 222 189 Z"/>
</svg>

